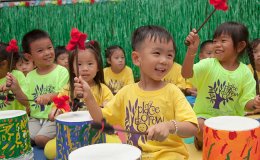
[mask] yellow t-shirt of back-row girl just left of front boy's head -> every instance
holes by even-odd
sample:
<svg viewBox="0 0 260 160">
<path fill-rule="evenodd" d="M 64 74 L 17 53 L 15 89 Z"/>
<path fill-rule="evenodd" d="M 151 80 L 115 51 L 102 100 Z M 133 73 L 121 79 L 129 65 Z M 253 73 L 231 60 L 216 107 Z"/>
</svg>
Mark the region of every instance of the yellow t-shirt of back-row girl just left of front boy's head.
<svg viewBox="0 0 260 160">
<path fill-rule="evenodd" d="M 118 74 L 114 73 L 111 67 L 104 68 L 104 79 L 113 94 L 116 94 L 122 87 L 134 83 L 133 71 L 128 66 L 125 66 Z"/>
</svg>

